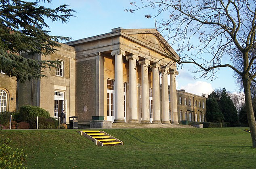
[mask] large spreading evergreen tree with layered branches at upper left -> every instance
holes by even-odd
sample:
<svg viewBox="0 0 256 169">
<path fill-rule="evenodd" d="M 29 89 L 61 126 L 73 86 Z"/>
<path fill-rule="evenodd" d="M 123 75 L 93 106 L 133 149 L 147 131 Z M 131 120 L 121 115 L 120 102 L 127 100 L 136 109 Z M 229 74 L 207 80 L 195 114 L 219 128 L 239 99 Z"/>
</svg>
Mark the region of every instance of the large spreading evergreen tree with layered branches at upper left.
<svg viewBox="0 0 256 169">
<path fill-rule="evenodd" d="M 67 4 L 51 9 L 40 6 L 39 2 L 0 0 L 0 73 L 17 77 L 19 81 L 44 77 L 42 68 L 55 63 L 28 59 L 21 53 L 48 55 L 60 46 L 59 41 L 70 40 L 49 35 L 49 31 L 43 30 L 49 28 L 44 19 L 66 23 L 75 11 L 68 9 Z"/>
</svg>

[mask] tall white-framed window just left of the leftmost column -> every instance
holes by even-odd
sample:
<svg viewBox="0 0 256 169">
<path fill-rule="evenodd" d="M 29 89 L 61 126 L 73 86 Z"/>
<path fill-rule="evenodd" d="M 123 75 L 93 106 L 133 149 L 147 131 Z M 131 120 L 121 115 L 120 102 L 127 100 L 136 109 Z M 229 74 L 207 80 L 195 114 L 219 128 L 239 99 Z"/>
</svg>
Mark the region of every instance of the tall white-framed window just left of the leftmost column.
<svg viewBox="0 0 256 169">
<path fill-rule="evenodd" d="M 114 116 L 114 80 L 107 79 L 107 116 Z"/>
</svg>

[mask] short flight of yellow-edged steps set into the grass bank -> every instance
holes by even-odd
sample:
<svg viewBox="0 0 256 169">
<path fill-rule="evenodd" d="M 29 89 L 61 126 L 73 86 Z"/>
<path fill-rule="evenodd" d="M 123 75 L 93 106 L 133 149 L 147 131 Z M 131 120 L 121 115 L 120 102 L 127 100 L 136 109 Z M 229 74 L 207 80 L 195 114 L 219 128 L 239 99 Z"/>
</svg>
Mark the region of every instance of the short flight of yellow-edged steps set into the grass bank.
<svg viewBox="0 0 256 169">
<path fill-rule="evenodd" d="M 94 141 L 94 143 L 98 146 L 106 146 L 106 145 L 124 145 L 121 140 L 107 134 L 104 131 L 100 130 L 81 130 L 79 133 L 82 136 Z"/>
</svg>

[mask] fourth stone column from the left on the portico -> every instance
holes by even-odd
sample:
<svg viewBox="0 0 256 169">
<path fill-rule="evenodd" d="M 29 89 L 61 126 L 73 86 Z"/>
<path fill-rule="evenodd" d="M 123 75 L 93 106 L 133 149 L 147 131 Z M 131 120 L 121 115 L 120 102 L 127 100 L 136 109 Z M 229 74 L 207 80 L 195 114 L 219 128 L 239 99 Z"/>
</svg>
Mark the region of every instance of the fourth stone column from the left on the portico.
<svg viewBox="0 0 256 169">
<path fill-rule="evenodd" d="M 152 123 L 154 124 L 161 124 L 159 68 L 160 68 L 160 65 L 158 63 L 152 66 L 152 71 L 153 71 L 153 122 Z"/>
</svg>

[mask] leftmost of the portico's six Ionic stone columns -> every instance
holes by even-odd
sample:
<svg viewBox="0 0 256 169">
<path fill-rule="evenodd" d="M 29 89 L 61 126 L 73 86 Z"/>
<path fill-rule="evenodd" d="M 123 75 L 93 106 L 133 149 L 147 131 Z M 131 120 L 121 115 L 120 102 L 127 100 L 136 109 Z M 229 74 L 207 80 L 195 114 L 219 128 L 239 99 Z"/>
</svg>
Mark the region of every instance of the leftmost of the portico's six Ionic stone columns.
<svg viewBox="0 0 256 169">
<path fill-rule="evenodd" d="M 115 120 L 114 122 L 125 123 L 124 121 L 124 82 L 123 82 L 123 55 L 121 49 L 111 52 L 115 55 Z"/>
</svg>

